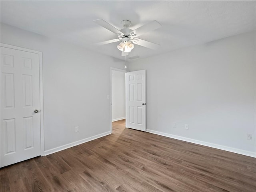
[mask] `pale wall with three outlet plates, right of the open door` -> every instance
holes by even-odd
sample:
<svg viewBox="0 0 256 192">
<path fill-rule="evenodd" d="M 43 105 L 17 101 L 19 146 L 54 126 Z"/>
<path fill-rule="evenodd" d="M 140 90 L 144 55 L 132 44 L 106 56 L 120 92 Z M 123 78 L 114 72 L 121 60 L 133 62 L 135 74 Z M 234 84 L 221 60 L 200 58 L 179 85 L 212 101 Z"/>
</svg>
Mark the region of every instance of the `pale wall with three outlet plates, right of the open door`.
<svg viewBox="0 0 256 192">
<path fill-rule="evenodd" d="M 129 67 L 147 72 L 148 131 L 255 156 L 255 32 Z"/>
</svg>

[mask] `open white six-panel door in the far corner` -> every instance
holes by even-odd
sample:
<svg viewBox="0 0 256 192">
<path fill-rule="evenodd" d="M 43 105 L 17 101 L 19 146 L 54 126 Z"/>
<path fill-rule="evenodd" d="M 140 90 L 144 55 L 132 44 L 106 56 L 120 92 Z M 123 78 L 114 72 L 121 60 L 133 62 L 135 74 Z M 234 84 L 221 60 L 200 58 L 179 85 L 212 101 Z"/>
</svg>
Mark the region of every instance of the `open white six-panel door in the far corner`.
<svg viewBox="0 0 256 192">
<path fill-rule="evenodd" d="M 127 127 L 146 131 L 146 70 L 128 72 L 126 78 Z"/>
</svg>

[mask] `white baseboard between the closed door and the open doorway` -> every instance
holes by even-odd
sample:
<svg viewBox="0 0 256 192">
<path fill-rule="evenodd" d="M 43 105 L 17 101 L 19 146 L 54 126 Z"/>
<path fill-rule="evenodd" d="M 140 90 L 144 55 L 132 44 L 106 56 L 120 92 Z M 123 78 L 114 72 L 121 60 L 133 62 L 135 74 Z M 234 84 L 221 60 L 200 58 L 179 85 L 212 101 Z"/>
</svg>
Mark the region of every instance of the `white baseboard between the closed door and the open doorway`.
<svg viewBox="0 0 256 192">
<path fill-rule="evenodd" d="M 50 155 L 52 153 L 56 153 L 58 151 L 62 151 L 64 149 L 67 149 L 67 148 L 70 148 L 70 147 L 74 147 L 76 145 L 80 145 L 82 143 L 86 143 L 88 141 L 91 141 L 91 140 L 94 140 L 94 139 L 98 139 L 100 137 L 104 137 L 106 135 L 109 135 L 111 134 L 111 131 L 108 131 L 108 132 L 105 132 L 105 133 L 101 133 L 101 134 L 98 134 L 98 135 L 95 135 L 95 136 L 92 136 L 92 137 L 88 137 L 86 139 L 82 139 L 82 140 L 79 140 L 79 141 L 75 141 L 75 142 L 72 142 L 72 143 L 69 143 L 69 144 L 66 144 L 66 145 L 62 145 L 62 146 L 59 146 L 59 147 L 56 147 L 56 148 L 52 148 L 52 149 L 49 149 L 49 150 L 46 150 L 44 151 L 44 155 Z"/>
</svg>

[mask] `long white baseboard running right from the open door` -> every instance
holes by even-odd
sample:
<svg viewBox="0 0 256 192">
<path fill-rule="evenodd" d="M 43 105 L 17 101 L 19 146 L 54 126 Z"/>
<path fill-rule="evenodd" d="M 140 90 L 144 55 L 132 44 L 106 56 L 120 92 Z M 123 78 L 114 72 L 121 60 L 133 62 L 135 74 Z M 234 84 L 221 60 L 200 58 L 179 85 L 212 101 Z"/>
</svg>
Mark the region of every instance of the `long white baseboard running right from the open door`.
<svg viewBox="0 0 256 192">
<path fill-rule="evenodd" d="M 250 157 L 254 157 L 254 158 L 256 157 L 256 153 L 251 152 L 251 151 L 241 150 L 241 149 L 218 145 L 218 144 L 214 144 L 214 143 L 208 143 L 208 142 L 204 142 L 204 141 L 200 141 L 200 140 L 190 139 L 190 138 L 186 138 L 186 137 L 182 137 L 182 136 L 172 135 L 172 134 L 158 132 L 158 131 L 149 130 L 149 129 L 147 129 L 146 132 L 157 134 L 157 135 L 162 135 L 165 137 L 178 139 L 178 140 L 182 140 L 182 141 L 186 141 L 186 142 L 190 142 L 190 143 L 194 143 L 194 144 L 208 146 L 208 147 L 212 147 L 212 148 L 216 148 L 216 149 L 221 149 L 221 150 L 225 150 L 225 151 L 229 151 L 229 152 L 233 152 L 233 153 L 238 153 L 238 154 L 242 154 L 242 155 L 246 155 L 246 156 L 250 156 Z"/>
</svg>

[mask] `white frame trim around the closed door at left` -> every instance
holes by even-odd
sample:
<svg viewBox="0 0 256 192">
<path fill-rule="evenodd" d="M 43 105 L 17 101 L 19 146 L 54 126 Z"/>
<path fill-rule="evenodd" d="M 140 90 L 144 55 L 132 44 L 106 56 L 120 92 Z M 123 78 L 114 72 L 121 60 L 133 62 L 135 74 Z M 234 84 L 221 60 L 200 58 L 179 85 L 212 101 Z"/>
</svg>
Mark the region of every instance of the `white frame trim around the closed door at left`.
<svg viewBox="0 0 256 192">
<path fill-rule="evenodd" d="M 23 48 L 23 47 L 13 46 L 13 45 L 9 45 L 9 44 L 4 44 L 4 43 L 0 43 L 0 46 L 5 47 L 5 48 L 16 49 L 16 50 L 20 50 L 20 51 L 36 53 L 39 55 L 41 156 L 44 156 L 44 99 L 43 99 L 43 56 L 42 56 L 42 52 Z"/>
</svg>

